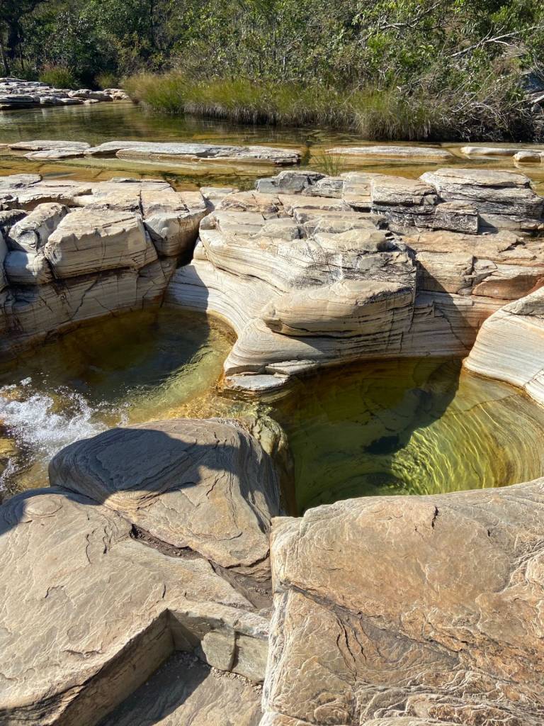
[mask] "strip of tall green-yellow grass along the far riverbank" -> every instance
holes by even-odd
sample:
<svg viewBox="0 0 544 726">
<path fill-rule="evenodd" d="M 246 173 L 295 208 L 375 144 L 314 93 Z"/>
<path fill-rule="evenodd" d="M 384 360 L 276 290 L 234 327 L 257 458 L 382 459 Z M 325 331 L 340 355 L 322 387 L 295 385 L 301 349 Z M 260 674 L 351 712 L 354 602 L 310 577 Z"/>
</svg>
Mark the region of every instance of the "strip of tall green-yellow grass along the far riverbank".
<svg viewBox="0 0 544 726">
<path fill-rule="evenodd" d="M 487 85 L 486 85 L 487 83 Z M 504 86 L 504 87 L 503 87 Z M 322 126 L 355 131 L 368 140 L 502 139 L 527 135 L 527 113 L 508 84 L 482 81 L 478 91 L 342 90 L 317 83 L 239 79 L 194 80 L 179 71 L 141 73 L 125 81 L 133 100 L 166 113 L 192 113 L 234 123 Z"/>
</svg>

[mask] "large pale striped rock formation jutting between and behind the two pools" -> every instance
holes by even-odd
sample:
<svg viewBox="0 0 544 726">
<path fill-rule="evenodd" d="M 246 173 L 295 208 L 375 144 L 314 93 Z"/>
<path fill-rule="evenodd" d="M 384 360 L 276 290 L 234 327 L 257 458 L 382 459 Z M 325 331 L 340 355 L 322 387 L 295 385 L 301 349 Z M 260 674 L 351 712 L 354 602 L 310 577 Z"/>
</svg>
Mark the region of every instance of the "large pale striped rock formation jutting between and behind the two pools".
<svg viewBox="0 0 544 726">
<path fill-rule="evenodd" d="M 490 314 L 542 284 L 543 206 L 506 171 L 283 171 L 223 197 L 168 301 L 234 327 L 239 391 L 356 359 L 463 356 Z"/>
</svg>

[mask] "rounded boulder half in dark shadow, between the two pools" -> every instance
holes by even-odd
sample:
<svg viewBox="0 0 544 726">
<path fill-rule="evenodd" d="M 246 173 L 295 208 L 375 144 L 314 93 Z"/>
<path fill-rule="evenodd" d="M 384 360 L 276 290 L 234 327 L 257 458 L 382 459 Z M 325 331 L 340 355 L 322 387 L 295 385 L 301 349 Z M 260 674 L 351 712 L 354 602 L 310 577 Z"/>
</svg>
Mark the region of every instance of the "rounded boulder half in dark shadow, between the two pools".
<svg viewBox="0 0 544 726">
<path fill-rule="evenodd" d="M 49 477 L 104 502 L 161 542 L 267 576 L 278 483 L 269 457 L 234 422 L 182 419 L 112 429 L 57 454 Z"/>
</svg>

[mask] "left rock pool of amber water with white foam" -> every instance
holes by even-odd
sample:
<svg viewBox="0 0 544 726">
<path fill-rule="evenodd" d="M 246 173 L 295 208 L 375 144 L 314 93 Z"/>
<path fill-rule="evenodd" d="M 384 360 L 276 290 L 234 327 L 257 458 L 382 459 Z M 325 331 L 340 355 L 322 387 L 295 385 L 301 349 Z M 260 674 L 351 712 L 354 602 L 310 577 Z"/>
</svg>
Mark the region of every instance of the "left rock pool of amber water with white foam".
<svg viewBox="0 0 544 726">
<path fill-rule="evenodd" d="M 55 452 L 104 428 L 191 415 L 231 344 L 205 316 L 162 308 L 96 322 L 27 354 L 0 373 L 0 490 L 46 485 Z"/>
</svg>

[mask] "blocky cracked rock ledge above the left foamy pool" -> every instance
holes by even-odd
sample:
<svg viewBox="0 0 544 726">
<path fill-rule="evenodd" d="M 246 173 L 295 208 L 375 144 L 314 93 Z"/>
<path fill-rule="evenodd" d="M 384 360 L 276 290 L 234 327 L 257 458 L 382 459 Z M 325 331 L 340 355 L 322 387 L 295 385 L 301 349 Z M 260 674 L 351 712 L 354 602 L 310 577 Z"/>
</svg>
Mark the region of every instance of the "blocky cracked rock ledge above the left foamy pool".
<svg viewBox="0 0 544 726">
<path fill-rule="evenodd" d="M 0 178 L 2 354 L 103 315 L 162 300 L 207 213 L 164 181 Z"/>
</svg>

